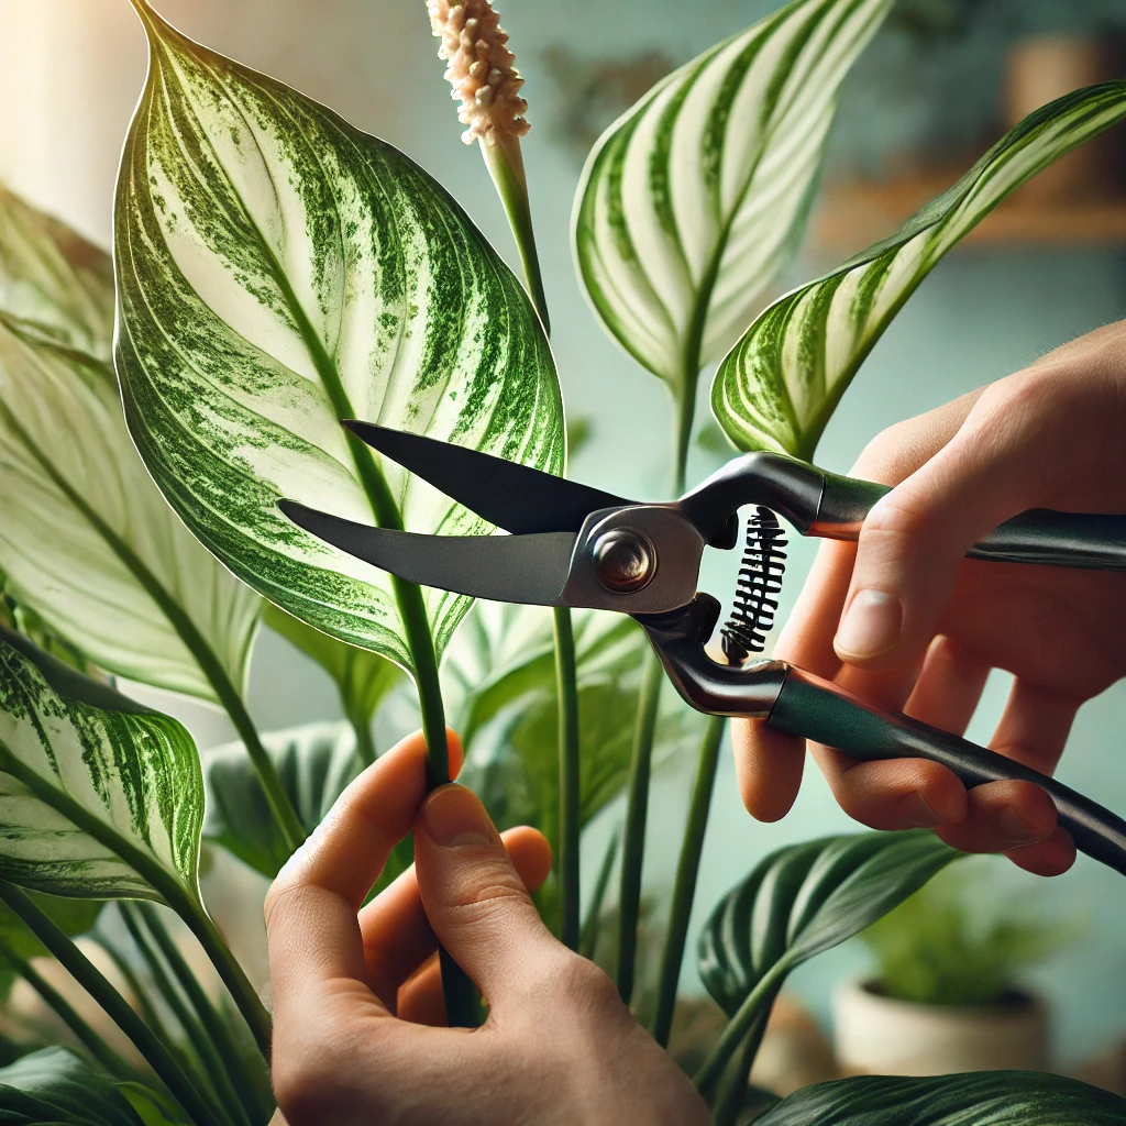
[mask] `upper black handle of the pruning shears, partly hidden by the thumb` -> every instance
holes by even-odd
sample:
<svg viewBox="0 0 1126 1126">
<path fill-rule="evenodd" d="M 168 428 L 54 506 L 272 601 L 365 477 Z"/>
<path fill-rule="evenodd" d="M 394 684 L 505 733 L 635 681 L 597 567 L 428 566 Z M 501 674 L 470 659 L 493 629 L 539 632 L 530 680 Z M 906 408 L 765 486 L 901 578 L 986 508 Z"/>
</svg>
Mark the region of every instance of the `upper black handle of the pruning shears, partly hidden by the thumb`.
<svg viewBox="0 0 1126 1126">
<path fill-rule="evenodd" d="M 891 492 L 857 477 L 823 473 L 815 536 L 856 539 L 873 504 Z M 1126 571 L 1126 516 L 1034 508 L 994 528 L 966 552 L 999 563 L 1039 563 L 1087 571 Z"/>
</svg>

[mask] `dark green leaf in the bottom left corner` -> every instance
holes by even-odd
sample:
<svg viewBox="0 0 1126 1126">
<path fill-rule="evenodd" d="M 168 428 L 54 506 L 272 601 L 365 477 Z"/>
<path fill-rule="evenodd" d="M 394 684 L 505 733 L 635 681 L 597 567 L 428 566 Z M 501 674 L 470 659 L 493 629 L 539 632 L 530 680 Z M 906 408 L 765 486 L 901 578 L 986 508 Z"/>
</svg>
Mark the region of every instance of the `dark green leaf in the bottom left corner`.
<svg viewBox="0 0 1126 1126">
<path fill-rule="evenodd" d="M 142 1126 L 142 1121 L 105 1072 L 66 1048 L 44 1048 L 0 1067 L 0 1123 Z"/>
</svg>

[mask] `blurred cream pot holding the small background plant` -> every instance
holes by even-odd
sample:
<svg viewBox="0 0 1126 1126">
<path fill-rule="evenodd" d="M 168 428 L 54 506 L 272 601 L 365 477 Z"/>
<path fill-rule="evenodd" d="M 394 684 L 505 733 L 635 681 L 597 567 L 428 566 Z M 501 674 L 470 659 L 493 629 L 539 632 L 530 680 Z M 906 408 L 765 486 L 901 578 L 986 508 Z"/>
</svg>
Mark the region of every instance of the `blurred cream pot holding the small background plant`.
<svg viewBox="0 0 1126 1126">
<path fill-rule="evenodd" d="M 963 1008 L 896 1001 L 875 982 L 850 982 L 833 998 L 833 1034 L 838 1063 L 850 1075 L 1047 1067 L 1047 1011 L 1016 991 L 998 1004 Z"/>
</svg>

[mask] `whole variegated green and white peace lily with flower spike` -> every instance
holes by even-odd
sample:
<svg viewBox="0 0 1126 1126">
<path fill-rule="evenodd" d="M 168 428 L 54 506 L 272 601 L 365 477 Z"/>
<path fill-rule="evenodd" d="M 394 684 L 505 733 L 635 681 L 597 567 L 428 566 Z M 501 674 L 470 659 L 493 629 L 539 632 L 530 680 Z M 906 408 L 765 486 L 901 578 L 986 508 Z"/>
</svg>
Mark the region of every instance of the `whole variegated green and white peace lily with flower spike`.
<svg viewBox="0 0 1126 1126">
<path fill-rule="evenodd" d="M 429 0 L 522 282 L 408 155 L 191 42 L 148 0 L 132 3 L 150 70 L 122 161 L 113 265 L 0 194 L 0 953 L 5 984 L 23 977 L 72 1034 L 70 1048 L 39 1046 L 0 1070 L 0 1110 L 99 1126 L 269 1119 L 269 1013 L 202 897 L 200 850 L 276 874 L 374 759 L 373 717 L 403 672 L 431 781 L 448 778 L 450 718 L 470 751 L 464 779 L 500 825 L 530 821 L 552 839 L 556 878 L 540 904 L 569 945 L 593 949 L 620 841 L 609 969 L 627 1001 L 650 772 L 698 745 L 672 899 L 659 910 L 650 1019 L 667 1044 L 723 722 L 661 712 L 663 673 L 628 619 L 474 608 L 329 547 L 275 503 L 417 531 L 493 530 L 381 462 L 347 418 L 564 471 L 520 153 L 527 106 L 495 12 L 486 0 Z M 1126 82 L 1044 107 L 885 242 L 756 315 L 802 235 L 840 82 L 891 7 L 794 0 L 659 82 L 587 162 L 579 277 L 604 328 L 669 388 L 678 491 L 704 370 L 717 365 L 713 409 L 736 447 L 812 457 L 935 263 L 1020 184 L 1126 117 Z M 330 673 L 346 724 L 256 731 L 244 690 L 262 620 Z M 118 677 L 222 707 L 239 744 L 202 765 L 188 731 L 120 695 Z M 623 794 L 583 919 L 580 834 Z M 741 1111 L 789 971 L 955 856 L 926 832 L 813 841 L 767 857 L 716 905 L 699 969 L 731 1020 L 696 1081 L 717 1123 Z M 408 846 L 390 867 L 409 863 Z M 214 964 L 217 992 L 190 967 L 173 913 Z M 135 1051 L 51 985 L 45 955 Z M 477 999 L 444 968 L 452 1019 L 472 1022 Z M 997 1073 L 842 1080 L 759 1120 L 1124 1116 L 1126 1102 L 1082 1084 Z"/>
</svg>

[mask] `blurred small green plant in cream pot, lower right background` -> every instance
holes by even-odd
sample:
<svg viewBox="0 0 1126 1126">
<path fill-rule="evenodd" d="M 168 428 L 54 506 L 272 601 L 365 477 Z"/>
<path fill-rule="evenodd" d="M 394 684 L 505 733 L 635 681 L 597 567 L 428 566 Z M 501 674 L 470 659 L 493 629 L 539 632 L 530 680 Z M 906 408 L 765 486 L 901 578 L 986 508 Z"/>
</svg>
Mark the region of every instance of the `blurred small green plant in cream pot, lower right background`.
<svg viewBox="0 0 1126 1126">
<path fill-rule="evenodd" d="M 1074 930 L 998 897 L 974 868 L 948 868 L 860 936 L 875 969 L 833 999 L 846 1074 L 1047 1070 L 1048 1010 L 1020 974 Z"/>
</svg>

